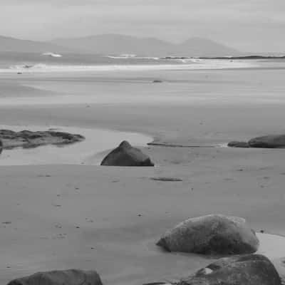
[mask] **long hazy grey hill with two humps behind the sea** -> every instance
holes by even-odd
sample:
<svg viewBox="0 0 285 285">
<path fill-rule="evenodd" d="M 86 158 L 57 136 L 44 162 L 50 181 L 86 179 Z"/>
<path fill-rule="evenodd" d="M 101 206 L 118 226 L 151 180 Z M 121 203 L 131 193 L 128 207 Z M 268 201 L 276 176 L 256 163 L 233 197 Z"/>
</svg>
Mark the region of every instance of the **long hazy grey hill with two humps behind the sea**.
<svg viewBox="0 0 285 285">
<path fill-rule="evenodd" d="M 175 44 L 157 38 L 105 34 L 83 38 L 58 38 L 51 43 L 84 53 L 104 55 L 135 53 L 141 56 L 237 56 L 241 54 L 234 48 L 204 38 L 190 38 L 183 43 Z"/>
</svg>

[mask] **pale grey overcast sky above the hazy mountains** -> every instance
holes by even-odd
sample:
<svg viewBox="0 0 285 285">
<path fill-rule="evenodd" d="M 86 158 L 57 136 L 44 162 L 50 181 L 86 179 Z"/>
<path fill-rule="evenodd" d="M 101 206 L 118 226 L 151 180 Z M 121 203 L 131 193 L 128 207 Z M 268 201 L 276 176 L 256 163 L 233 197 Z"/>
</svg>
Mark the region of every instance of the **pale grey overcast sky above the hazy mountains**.
<svg viewBox="0 0 285 285">
<path fill-rule="evenodd" d="M 285 51 L 285 0 L 0 0 L 0 35 L 33 40 L 124 33 L 210 38 Z"/>
</svg>

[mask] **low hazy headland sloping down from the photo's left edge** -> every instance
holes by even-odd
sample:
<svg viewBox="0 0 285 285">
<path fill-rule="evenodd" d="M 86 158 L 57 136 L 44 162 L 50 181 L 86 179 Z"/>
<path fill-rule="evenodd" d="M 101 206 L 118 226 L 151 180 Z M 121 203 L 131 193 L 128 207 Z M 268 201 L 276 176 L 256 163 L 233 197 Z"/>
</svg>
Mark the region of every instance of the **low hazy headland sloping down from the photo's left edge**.
<svg viewBox="0 0 285 285">
<path fill-rule="evenodd" d="M 27 41 L 18 38 L 10 38 L 0 36 L 0 52 L 14 51 L 23 53 L 45 53 L 45 52 L 68 52 L 71 48 L 57 46 L 54 43 L 46 43 L 41 41 Z"/>
</svg>

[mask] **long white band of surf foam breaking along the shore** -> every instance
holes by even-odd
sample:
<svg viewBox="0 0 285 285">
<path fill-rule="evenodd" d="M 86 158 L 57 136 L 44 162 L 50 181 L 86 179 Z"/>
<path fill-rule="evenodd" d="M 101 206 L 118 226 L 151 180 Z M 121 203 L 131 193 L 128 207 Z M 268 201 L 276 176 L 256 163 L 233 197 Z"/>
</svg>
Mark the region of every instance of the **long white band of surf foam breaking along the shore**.
<svg viewBox="0 0 285 285">
<path fill-rule="evenodd" d="M 163 70 L 204 70 L 204 69 L 234 69 L 257 67 L 257 63 L 249 61 L 199 60 L 191 58 L 179 64 L 128 64 L 128 65 L 47 65 L 21 64 L 0 69 L 0 73 L 38 72 L 76 72 L 76 71 L 163 71 Z"/>
</svg>

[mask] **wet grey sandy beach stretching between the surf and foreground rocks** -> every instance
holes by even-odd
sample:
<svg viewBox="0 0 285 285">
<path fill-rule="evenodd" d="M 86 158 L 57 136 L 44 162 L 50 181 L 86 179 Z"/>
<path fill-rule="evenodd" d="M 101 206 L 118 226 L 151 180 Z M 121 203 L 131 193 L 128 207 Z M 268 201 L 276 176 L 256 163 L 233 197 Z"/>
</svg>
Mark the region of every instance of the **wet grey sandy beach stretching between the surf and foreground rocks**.
<svg viewBox="0 0 285 285">
<path fill-rule="evenodd" d="M 203 214 L 244 217 L 257 232 L 285 236 L 284 150 L 224 147 L 285 133 L 284 76 L 283 63 L 1 74 L 1 125 L 141 133 L 184 147 L 144 142 L 155 167 L 0 166 L 0 283 L 67 268 L 95 269 L 107 285 L 179 279 L 211 260 L 165 253 L 155 242 L 177 222 Z M 100 155 L 117 145 L 108 142 Z M 285 252 L 263 244 L 265 235 L 259 239 L 284 274 Z"/>
</svg>

